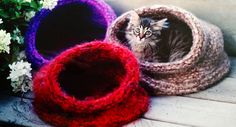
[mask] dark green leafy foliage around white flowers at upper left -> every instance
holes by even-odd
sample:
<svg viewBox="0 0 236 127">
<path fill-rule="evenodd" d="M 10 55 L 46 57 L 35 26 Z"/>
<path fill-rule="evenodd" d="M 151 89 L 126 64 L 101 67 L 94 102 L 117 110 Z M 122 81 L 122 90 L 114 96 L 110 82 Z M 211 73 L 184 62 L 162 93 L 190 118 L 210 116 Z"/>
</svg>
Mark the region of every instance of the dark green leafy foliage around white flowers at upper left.
<svg viewBox="0 0 236 127">
<path fill-rule="evenodd" d="M 6 79 L 9 75 L 8 65 L 17 61 L 18 55 L 24 50 L 23 36 L 29 20 L 41 7 L 39 0 L 0 0 L 0 30 L 11 36 L 9 54 L 0 52 L 0 78 Z"/>
</svg>

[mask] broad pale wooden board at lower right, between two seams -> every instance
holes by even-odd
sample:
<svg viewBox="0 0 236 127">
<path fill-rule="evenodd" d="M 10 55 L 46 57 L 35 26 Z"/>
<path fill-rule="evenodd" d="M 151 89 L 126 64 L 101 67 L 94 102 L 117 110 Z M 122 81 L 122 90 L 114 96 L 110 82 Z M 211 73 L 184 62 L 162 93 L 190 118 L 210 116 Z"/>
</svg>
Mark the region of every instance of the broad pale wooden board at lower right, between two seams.
<svg viewBox="0 0 236 127">
<path fill-rule="evenodd" d="M 236 105 L 188 97 L 155 97 L 147 119 L 201 127 L 235 127 Z"/>
</svg>

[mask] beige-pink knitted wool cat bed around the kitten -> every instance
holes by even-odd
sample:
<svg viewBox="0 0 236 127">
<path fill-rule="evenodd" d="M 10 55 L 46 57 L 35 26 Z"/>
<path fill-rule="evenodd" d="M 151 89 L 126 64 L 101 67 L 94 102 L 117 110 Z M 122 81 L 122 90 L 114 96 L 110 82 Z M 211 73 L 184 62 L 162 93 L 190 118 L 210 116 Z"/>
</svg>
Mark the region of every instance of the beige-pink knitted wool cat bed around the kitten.
<svg viewBox="0 0 236 127">
<path fill-rule="evenodd" d="M 229 71 L 230 62 L 224 51 L 222 32 L 217 26 L 174 6 L 155 5 L 134 11 L 141 17 L 167 18 L 172 25 L 168 29 L 188 31 L 187 35 L 191 40 L 186 55 L 176 61 L 140 61 L 141 80 L 155 95 L 182 95 L 197 92 L 215 84 Z M 130 47 L 124 32 L 120 32 L 127 27 L 130 13 L 132 11 L 121 15 L 109 27 L 108 40 Z M 162 40 L 166 40 L 168 33 L 161 37 Z M 178 53 L 180 49 L 174 47 L 170 50 Z M 168 54 L 164 53 L 164 55 Z"/>
</svg>

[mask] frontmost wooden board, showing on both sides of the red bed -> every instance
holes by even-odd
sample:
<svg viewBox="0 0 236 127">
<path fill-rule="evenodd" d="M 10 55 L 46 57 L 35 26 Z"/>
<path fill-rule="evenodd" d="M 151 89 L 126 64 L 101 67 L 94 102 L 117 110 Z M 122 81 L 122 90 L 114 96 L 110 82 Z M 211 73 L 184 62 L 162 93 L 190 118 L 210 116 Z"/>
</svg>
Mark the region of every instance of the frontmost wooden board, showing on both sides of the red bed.
<svg viewBox="0 0 236 127">
<path fill-rule="evenodd" d="M 0 96 L 1 122 L 29 127 L 50 127 L 33 111 L 32 100 L 13 96 Z M 183 125 L 140 118 L 125 127 L 186 127 Z"/>
</svg>

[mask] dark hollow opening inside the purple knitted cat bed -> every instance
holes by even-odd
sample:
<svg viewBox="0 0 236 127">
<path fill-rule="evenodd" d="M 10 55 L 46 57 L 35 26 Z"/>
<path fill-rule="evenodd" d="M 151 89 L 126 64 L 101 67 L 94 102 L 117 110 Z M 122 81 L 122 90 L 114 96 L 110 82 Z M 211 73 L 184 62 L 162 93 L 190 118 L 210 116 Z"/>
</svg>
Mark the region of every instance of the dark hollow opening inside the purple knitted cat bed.
<svg viewBox="0 0 236 127">
<path fill-rule="evenodd" d="M 36 48 L 45 58 L 81 42 L 103 40 L 107 22 L 104 14 L 83 2 L 65 4 L 42 19 L 36 34 Z"/>
</svg>

